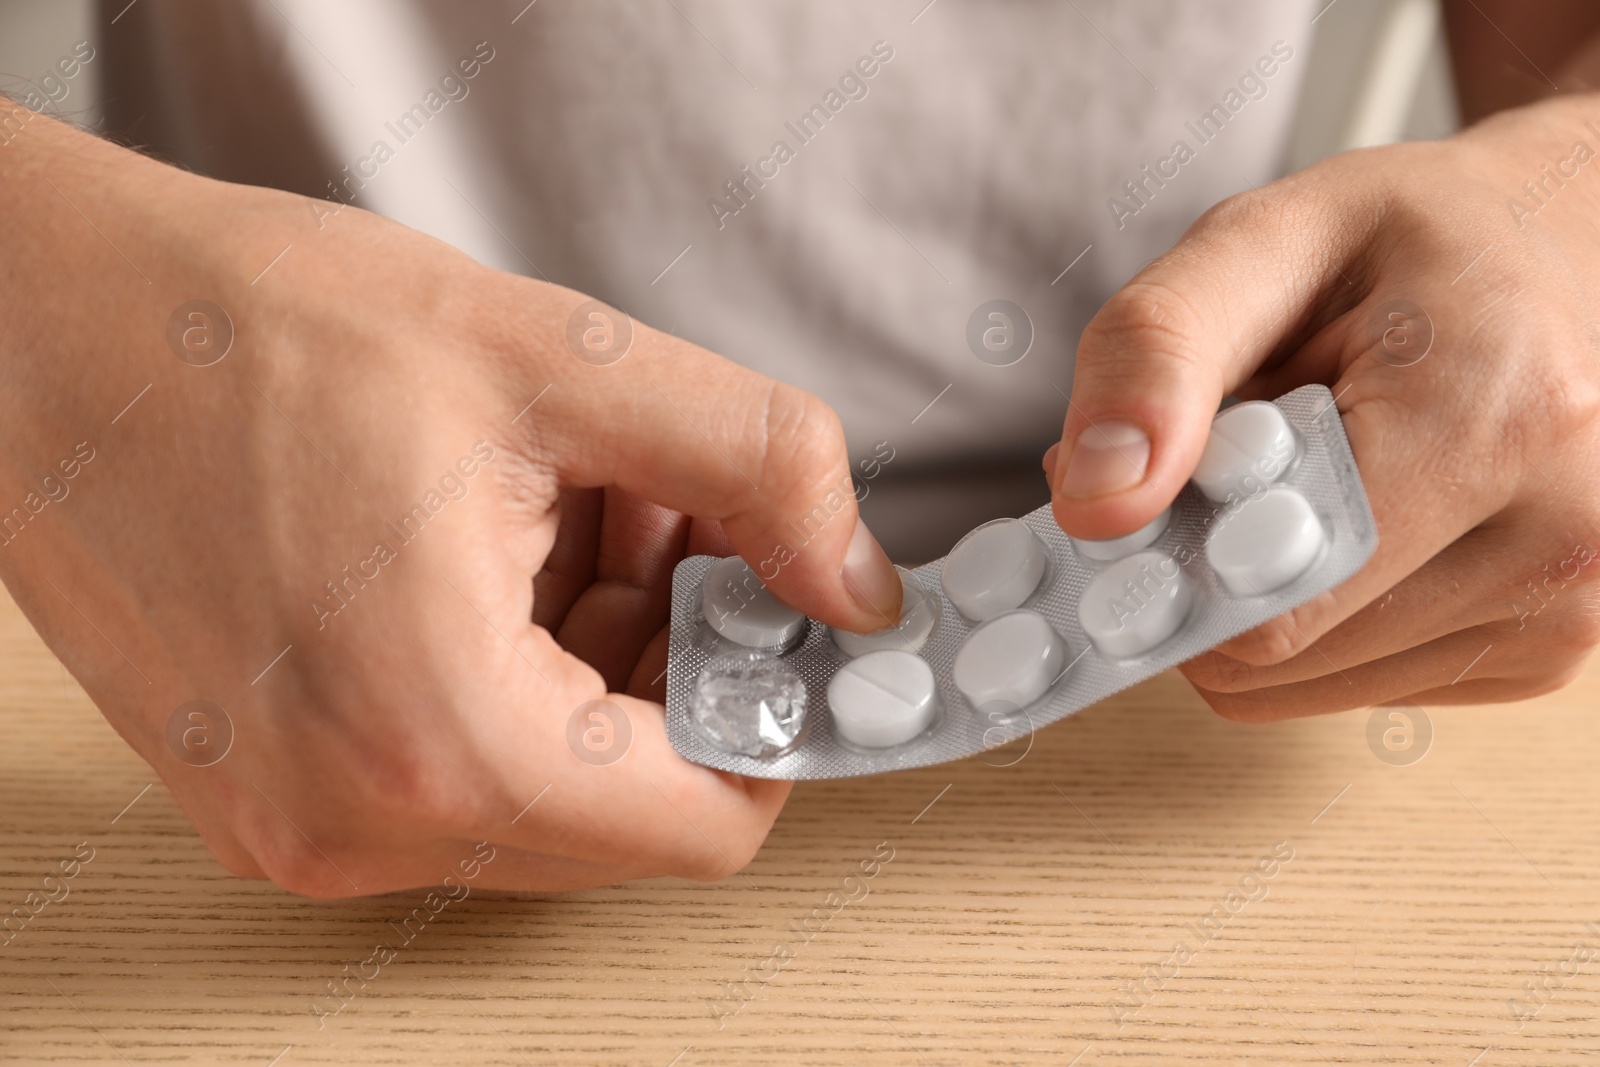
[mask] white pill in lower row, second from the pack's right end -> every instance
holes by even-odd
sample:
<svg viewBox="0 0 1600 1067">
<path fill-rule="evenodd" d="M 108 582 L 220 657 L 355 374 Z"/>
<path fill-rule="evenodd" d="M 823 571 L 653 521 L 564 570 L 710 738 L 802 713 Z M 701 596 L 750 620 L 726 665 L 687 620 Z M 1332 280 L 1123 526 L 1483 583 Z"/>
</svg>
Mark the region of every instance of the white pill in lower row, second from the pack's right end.
<svg viewBox="0 0 1600 1067">
<path fill-rule="evenodd" d="M 1176 633 L 1194 603 L 1194 582 L 1178 560 L 1146 549 L 1090 581 L 1078 600 L 1078 622 L 1101 656 L 1128 659 Z"/>
</svg>

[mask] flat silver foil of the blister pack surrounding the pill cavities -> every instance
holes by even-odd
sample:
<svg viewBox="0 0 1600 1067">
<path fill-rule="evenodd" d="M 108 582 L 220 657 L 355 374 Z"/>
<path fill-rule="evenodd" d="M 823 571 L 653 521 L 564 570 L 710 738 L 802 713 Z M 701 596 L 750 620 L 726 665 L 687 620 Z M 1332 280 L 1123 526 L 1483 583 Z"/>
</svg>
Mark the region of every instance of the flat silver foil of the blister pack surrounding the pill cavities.
<svg viewBox="0 0 1600 1067">
<path fill-rule="evenodd" d="M 1323 386 L 1302 386 L 1272 402 L 1293 427 L 1299 454 L 1277 480 L 1261 486 L 1298 490 L 1323 523 L 1326 544 L 1310 568 L 1262 597 L 1229 593 L 1206 563 L 1206 539 L 1213 522 L 1229 506 L 1208 499 L 1190 482 L 1173 502 L 1166 530 L 1149 545 L 1178 561 L 1194 582 L 1195 601 L 1182 627 L 1150 653 L 1134 659 L 1107 659 L 1078 622 L 1077 605 L 1102 561 L 1080 558 L 1056 525 L 1050 506 L 1022 517 L 1048 553 L 1046 577 L 1024 606 L 1042 614 L 1067 645 L 1067 669 L 1034 704 L 1011 712 L 973 707 L 955 686 L 957 651 L 981 625 L 963 617 L 941 587 L 944 558 L 910 568 L 909 574 L 928 593 L 939 614 L 933 637 L 920 656 L 933 669 L 941 712 L 917 737 L 890 749 L 866 750 L 840 741 L 832 728 L 827 688 L 834 673 L 850 662 L 832 640 L 832 630 L 816 621 L 805 637 L 779 654 L 806 686 L 805 736 L 771 758 L 725 752 L 694 725 L 691 702 L 701 669 L 717 651 L 741 648 L 712 635 L 701 614 L 701 585 L 717 557 L 698 555 L 678 563 L 672 576 L 672 619 L 667 646 L 667 739 L 683 758 L 749 777 L 810 781 L 883 774 L 949 763 L 1010 744 L 1091 704 L 1152 678 L 1170 667 L 1251 630 L 1354 576 L 1378 547 L 1378 526 L 1362 486 L 1355 456 L 1333 394 Z M 1243 498 L 1248 506 L 1250 498 Z"/>
</svg>

